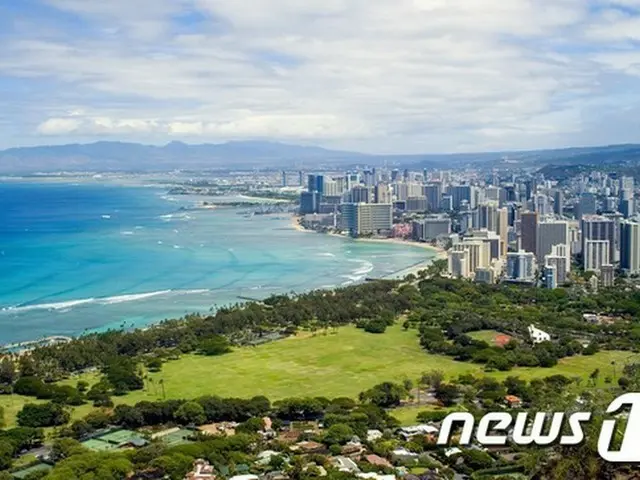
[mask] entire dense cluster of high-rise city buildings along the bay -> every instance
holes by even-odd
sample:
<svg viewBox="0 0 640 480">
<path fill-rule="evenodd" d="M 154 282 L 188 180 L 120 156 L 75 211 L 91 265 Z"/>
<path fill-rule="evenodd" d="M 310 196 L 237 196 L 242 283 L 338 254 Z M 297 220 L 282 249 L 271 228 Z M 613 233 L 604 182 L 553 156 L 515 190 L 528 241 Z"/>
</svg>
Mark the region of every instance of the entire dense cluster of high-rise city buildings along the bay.
<svg viewBox="0 0 640 480">
<path fill-rule="evenodd" d="M 479 282 L 565 284 L 572 268 L 610 286 L 640 274 L 632 177 L 593 172 L 559 183 L 539 174 L 365 169 L 303 177 L 300 211 L 324 226 L 392 235 L 449 252 L 449 274 Z"/>
</svg>

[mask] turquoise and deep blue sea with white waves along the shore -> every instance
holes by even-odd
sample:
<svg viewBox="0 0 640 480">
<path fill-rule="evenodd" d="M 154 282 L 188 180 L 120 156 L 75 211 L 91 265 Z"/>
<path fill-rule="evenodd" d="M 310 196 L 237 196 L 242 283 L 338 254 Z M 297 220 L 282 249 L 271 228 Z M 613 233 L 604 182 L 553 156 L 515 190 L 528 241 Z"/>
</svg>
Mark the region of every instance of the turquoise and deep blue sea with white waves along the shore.
<svg viewBox="0 0 640 480">
<path fill-rule="evenodd" d="M 433 258 L 112 183 L 0 183 L 0 344 L 148 325 Z M 244 209 L 246 210 L 246 208 Z"/>
</svg>

